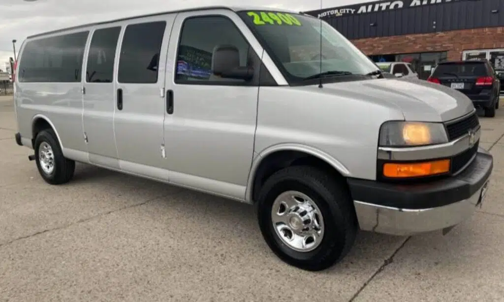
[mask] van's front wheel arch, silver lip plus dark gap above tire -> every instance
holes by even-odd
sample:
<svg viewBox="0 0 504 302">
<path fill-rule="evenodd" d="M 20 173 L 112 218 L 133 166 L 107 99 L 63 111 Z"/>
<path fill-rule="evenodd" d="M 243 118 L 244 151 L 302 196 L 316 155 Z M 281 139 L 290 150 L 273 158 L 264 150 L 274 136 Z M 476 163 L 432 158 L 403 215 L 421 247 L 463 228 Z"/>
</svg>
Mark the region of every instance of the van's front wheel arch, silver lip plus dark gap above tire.
<svg viewBox="0 0 504 302">
<path fill-rule="evenodd" d="M 335 177 L 350 176 L 350 171 L 331 155 L 301 144 L 279 144 L 261 151 L 252 162 L 245 190 L 245 201 L 253 204 L 264 181 L 276 171 L 292 166 L 307 164 L 319 167 Z"/>
</svg>

